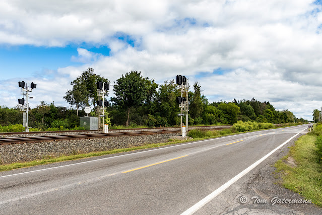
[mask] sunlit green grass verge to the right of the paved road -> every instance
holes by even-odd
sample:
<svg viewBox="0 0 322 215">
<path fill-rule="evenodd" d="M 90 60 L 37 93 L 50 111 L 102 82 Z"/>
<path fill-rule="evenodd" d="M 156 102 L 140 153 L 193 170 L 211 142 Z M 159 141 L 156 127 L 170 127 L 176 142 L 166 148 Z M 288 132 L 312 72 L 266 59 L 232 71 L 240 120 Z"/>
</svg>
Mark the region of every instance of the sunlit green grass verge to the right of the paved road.
<svg viewBox="0 0 322 215">
<path fill-rule="evenodd" d="M 322 206 L 322 165 L 314 144 L 315 140 L 315 135 L 301 136 L 295 145 L 290 147 L 289 154 L 278 160 L 275 167 L 282 175 L 282 184 L 285 188 Z M 285 163 L 289 156 L 295 159 L 296 167 L 290 167 Z"/>
</svg>

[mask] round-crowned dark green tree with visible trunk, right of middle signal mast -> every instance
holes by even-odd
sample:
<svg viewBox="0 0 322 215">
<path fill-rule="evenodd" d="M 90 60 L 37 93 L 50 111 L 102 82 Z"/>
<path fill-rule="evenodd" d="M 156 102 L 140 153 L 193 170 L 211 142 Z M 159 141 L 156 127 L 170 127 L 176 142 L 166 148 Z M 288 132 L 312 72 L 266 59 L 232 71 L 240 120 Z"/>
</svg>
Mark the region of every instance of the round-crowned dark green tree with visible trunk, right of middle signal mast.
<svg viewBox="0 0 322 215">
<path fill-rule="evenodd" d="M 128 126 L 130 118 L 130 108 L 139 106 L 147 99 L 146 81 L 141 76 L 141 72 L 132 71 L 122 75 L 114 82 L 115 97 L 111 101 L 121 108 L 127 109 L 127 120 L 125 125 Z"/>
</svg>

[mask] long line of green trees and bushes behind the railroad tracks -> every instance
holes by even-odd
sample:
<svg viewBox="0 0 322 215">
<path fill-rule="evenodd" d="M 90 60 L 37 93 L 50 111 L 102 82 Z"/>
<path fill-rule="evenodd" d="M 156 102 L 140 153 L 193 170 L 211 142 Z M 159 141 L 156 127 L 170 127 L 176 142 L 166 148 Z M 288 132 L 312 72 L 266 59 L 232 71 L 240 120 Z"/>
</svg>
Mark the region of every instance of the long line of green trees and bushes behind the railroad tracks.
<svg viewBox="0 0 322 215">
<path fill-rule="evenodd" d="M 96 82 L 109 83 L 108 79 L 96 75 L 92 68 L 88 68 L 71 82 L 72 90 L 68 90 L 64 98 L 71 107 L 55 106 L 54 102 L 46 104 L 41 101 L 36 108 L 29 112 L 28 125 L 42 130 L 48 128 L 71 129 L 79 126 L 79 117 L 86 116 L 82 111 L 85 106 L 92 106 L 89 116 L 96 114 Z M 125 126 L 179 126 L 180 113 L 176 97 L 180 95 L 178 85 L 174 80 L 166 80 L 157 84 L 148 77 L 143 78 L 140 72 L 132 71 L 122 75 L 113 85 L 114 97 L 110 98 L 107 107 L 108 116 L 105 118 L 109 125 Z M 108 98 L 108 97 L 107 97 Z M 107 99 L 105 98 L 105 99 Z M 307 122 L 297 119 L 288 110 L 278 111 L 269 101 L 236 100 L 231 102 L 218 101 L 209 103 L 202 94 L 198 82 L 190 86 L 188 92 L 189 125 L 234 124 L 237 121 L 251 121 L 259 123 L 291 123 Z M 0 108 L 0 124 L 22 124 L 22 114 L 19 106 L 15 108 Z"/>
</svg>

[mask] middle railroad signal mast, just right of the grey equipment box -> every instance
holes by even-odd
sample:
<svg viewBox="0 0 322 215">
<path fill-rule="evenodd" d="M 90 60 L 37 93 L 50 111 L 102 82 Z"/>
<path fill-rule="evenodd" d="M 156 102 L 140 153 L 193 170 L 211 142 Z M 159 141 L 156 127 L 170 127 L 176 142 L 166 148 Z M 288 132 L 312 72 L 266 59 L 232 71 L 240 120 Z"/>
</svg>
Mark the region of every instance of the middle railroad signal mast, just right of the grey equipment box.
<svg viewBox="0 0 322 215">
<path fill-rule="evenodd" d="M 98 96 L 97 106 L 96 106 L 96 113 L 99 114 L 98 116 L 98 128 L 103 127 L 103 133 L 104 133 L 104 111 L 106 110 L 106 107 L 109 105 L 108 100 L 104 101 L 105 95 L 108 93 L 109 90 L 109 84 L 102 81 L 97 81 L 97 90 L 96 95 Z M 103 123 L 101 123 L 101 117 L 103 118 Z"/>
</svg>

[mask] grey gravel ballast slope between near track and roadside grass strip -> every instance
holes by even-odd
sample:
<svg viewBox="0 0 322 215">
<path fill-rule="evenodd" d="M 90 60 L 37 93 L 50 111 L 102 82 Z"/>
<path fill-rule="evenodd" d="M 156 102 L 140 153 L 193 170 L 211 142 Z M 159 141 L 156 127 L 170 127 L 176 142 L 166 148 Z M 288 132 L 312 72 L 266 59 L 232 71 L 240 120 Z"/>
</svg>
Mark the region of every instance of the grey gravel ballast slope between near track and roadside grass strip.
<svg viewBox="0 0 322 215">
<path fill-rule="evenodd" d="M 61 155 L 105 151 L 115 148 L 129 148 L 150 143 L 163 143 L 168 142 L 170 138 L 176 135 L 179 135 L 179 133 L 0 145 L 0 164 L 29 162 L 31 160 L 58 157 Z"/>
</svg>

